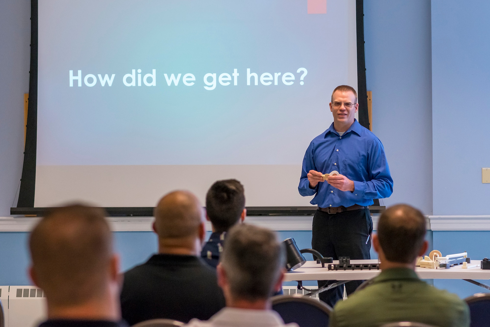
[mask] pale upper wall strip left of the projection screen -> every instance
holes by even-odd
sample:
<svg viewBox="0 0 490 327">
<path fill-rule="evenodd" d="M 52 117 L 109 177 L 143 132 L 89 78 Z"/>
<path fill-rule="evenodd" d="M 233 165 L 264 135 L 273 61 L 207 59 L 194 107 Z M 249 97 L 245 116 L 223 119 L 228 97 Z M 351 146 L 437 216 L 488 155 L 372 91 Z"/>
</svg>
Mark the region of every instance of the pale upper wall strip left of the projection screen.
<svg viewBox="0 0 490 327">
<path fill-rule="evenodd" d="M 0 1 L 0 216 L 10 214 L 24 151 L 29 90 L 30 0 Z"/>
</svg>

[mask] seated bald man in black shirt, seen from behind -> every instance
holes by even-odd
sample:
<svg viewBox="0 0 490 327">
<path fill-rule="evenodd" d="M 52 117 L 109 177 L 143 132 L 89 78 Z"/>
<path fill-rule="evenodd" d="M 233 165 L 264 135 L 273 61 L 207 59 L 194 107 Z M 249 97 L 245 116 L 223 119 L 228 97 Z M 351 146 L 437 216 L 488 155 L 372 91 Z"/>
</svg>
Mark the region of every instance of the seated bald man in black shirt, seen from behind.
<svg viewBox="0 0 490 327">
<path fill-rule="evenodd" d="M 123 318 L 134 325 L 156 318 L 187 323 L 209 319 L 224 306 L 216 272 L 199 256 L 204 210 L 187 191 L 165 195 L 154 210 L 158 254 L 124 274 Z"/>
</svg>

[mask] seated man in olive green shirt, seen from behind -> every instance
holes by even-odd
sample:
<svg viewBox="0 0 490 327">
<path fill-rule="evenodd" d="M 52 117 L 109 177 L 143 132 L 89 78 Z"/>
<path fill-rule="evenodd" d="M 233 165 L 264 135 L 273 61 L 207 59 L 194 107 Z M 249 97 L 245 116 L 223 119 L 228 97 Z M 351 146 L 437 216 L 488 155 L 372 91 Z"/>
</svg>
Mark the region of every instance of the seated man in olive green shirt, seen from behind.
<svg viewBox="0 0 490 327">
<path fill-rule="evenodd" d="M 466 303 L 415 273 L 417 256 L 428 247 L 424 236 L 425 218 L 419 210 L 396 205 L 383 212 L 378 234 L 372 237 L 382 272 L 366 288 L 337 302 L 330 327 L 377 327 L 400 321 L 468 327 Z"/>
</svg>

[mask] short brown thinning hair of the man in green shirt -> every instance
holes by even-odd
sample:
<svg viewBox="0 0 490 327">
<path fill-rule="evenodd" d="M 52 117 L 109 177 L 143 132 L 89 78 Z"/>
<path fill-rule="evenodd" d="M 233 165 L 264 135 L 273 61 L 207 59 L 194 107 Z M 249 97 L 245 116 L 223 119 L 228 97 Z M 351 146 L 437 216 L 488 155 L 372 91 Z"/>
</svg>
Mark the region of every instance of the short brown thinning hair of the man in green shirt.
<svg viewBox="0 0 490 327">
<path fill-rule="evenodd" d="M 411 263 L 424 243 L 425 217 L 406 204 L 385 210 L 378 221 L 378 239 L 385 257 L 392 262 Z"/>
</svg>

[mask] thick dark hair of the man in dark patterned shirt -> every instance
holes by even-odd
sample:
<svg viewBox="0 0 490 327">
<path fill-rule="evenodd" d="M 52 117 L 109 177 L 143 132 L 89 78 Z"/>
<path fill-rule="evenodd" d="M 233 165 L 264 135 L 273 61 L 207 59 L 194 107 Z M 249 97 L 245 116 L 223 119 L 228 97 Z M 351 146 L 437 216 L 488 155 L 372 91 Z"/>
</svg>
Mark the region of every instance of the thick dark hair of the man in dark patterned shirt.
<svg viewBox="0 0 490 327">
<path fill-rule="evenodd" d="M 236 179 L 215 182 L 206 194 L 206 212 L 217 232 L 227 232 L 245 209 L 245 190 Z"/>
</svg>

